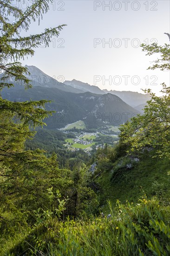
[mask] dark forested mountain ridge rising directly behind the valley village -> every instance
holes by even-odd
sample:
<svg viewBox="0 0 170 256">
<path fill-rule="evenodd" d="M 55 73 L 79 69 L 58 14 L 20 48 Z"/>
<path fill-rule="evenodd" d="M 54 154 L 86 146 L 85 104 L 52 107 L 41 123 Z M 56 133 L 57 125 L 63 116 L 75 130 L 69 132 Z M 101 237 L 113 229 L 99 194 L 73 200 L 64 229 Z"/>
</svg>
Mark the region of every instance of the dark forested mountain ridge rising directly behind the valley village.
<svg viewBox="0 0 170 256">
<path fill-rule="evenodd" d="M 46 109 L 55 110 L 56 113 L 45 120 L 47 128 L 65 127 L 78 120 L 85 121 L 87 128 L 119 125 L 139 113 L 113 94 L 76 94 L 58 88 L 35 86 L 27 90 L 23 87 L 4 88 L 1 95 L 10 101 L 52 100 L 52 103 L 46 103 Z"/>
</svg>

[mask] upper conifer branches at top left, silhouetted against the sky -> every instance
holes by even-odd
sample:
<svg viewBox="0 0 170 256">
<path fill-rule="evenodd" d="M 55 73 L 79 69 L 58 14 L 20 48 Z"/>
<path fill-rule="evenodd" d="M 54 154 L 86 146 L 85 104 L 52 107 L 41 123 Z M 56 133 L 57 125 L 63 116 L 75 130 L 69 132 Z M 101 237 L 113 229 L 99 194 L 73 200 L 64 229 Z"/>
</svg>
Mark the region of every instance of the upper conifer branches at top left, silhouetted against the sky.
<svg viewBox="0 0 170 256">
<path fill-rule="evenodd" d="M 0 83 L 0 88 L 13 86 L 12 83 L 7 82 L 7 79 L 12 77 L 15 81 L 24 81 L 25 86 L 30 87 L 30 81 L 25 76 L 29 72 L 26 67 L 21 66 L 18 60 L 24 59 L 28 55 L 33 56 L 33 48 L 39 47 L 41 44 L 48 46 L 52 37 L 58 37 L 59 31 L 65 25 L 46 28 L 41 34 L 27 37 L 21 37 L 20 31 L 25 29 L 28 32 L 31 21 L 42 18 L 42 14 L 48 11 L 50 2 L 52 0 L 37 0 L 23 11 L 14 7 L 11 0 L 0 1 L 0 71 L 4 72 L 1 77 L 3 82 Z M 15 22 L 10 23 L 10 15 L 13 16 Z"/>
</svg>

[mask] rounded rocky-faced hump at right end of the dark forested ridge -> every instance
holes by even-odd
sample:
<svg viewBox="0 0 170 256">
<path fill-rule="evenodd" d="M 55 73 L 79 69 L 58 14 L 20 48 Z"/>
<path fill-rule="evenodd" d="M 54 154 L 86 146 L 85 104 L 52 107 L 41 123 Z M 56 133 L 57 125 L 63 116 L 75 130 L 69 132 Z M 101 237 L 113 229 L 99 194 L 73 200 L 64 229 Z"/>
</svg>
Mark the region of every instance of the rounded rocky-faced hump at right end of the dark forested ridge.
<svg viewBox="0 0 170 256">
<path fill-rule="evenodd" d="M 86 111 L 84 121 L 88 128 L 120 125 L 140 113 L 113 94 L 78 94 L 77 103 Z"/>
</svg>

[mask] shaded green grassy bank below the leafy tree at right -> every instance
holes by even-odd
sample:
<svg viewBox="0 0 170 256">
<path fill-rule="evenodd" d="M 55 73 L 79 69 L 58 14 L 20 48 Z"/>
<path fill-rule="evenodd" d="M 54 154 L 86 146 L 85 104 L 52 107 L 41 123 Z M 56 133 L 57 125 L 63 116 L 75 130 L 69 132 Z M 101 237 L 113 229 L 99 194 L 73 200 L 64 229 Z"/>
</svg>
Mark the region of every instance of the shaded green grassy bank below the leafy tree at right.
<svg viewBox="0 0 170 256">
<path fill-rule="evenodd" d="M 170 162 L 166 160 L 144 157 L 135 163 L 131 169 L 124 168 L 123 174 L 116 180 L 111 180 L 114 168 L 123 168 L 123 163 L 115 163 L 112 170 L 104 172 L 98 176 L 95 181 L 99 184 L 100 197 L 105 205 L 106 199 L 110 199 L 115 205 L 119 199 L 122 203 L 126 200 L 136 202 L 141 195 L 158 195 L 163 197 L 170 196 L 170 176 L 167 172 L 170 170 Z M 108 208 L 105 206 L 107 212 Z"/>
</svg>

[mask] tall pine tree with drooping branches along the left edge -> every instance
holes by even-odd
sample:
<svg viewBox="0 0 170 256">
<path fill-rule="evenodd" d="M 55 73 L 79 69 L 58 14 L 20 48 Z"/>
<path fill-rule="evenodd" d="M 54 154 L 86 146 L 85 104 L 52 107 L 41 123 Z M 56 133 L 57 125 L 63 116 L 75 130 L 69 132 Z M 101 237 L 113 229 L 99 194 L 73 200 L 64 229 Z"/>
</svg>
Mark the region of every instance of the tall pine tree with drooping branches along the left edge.
<svg viewBox="0 0 170 256">
<path fill-rule="evenodd" d="M 52 0 L 36 0 L 26 11 L 14 7 L 12 0 L 0 1 L 0 90 L 12 87 L 10 82 L 22 82 L 30 88 L 29 74 L 20 60 L 33 56 L 34 48 L 49 45 L 53 36 L 58 37 L 65 25 L 46 28 L 41 34 L 20 36 L 20 31 L 29 32 L 32 21 L 40 20 L 49 9 Z M 20 2 L 20 0 L 18 0 Z M 15 22 L 10 22 L 10 17 Z M 31 128 L 43 126 L 43 119 L 52 115 L 45 110 L 48 101 L 12 102 L 0 94 L 0 213 L 19 213 L 20 208 L 31 202 L 42 201 L 43 181 L 51 171 L 51 161 L 43 150 L 25 150 L 25 141 L 33 138 Z M 41 189 L 40 189 L 41 188 Z M 46 190 L 46 189 L 45 189 Z M 40 201 L 39 201 L 40 202 Z M 1 218 L 3 219 L 3 218 Z"/>
</svg>

